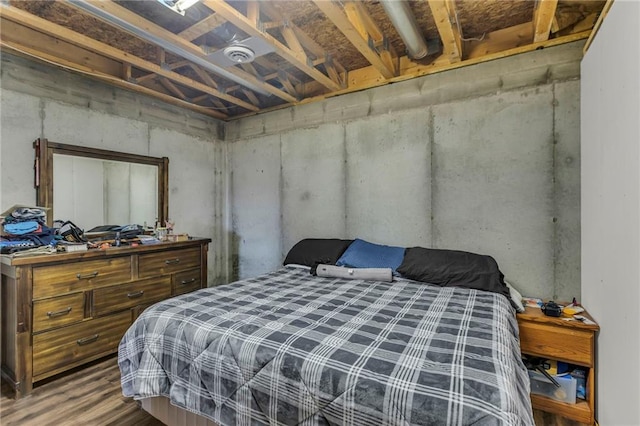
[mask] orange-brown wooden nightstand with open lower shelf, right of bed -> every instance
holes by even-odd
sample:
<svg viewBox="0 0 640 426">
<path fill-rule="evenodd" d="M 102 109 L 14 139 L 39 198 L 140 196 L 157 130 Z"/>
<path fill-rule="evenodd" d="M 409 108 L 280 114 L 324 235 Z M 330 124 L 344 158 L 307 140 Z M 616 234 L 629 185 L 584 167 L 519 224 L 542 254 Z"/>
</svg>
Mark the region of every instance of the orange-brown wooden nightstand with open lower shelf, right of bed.
<svg viewBox="0 0 640 426">
<path fill-rule="evenodd" d="M 593 321 L 588 312 L 580 315 Z M 518 314 L 520 350 L 526 355 L 587 367 L 588 400 L 579 399 L 575 404 L 567 404 L 532 394 L 531 401 L 535 409 L 592 425 L 595 421 L 595 340 L 600 327 L 562 318 L 548 317 L 539 308 L 526 308 Z"/>
</svg>

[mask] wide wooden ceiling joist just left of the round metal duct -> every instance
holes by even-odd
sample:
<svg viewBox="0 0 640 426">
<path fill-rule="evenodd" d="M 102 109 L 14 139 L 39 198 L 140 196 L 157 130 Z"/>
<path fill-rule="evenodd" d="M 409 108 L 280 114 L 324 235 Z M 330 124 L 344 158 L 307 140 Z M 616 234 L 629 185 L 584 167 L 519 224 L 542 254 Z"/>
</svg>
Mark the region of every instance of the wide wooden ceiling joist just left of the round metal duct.
<svg viewBox="0 0 640 426">
<path fill-rule="evenodd" d="M 313 0 L 313 3 L 340 30 L 353 46 L 364 56 L 384 78 L 392 78 L 395 70 L 390 68 L 380 57 L 380 54 L 369 46 L 368 40 L 360 35 L 358 29 L 349 20 L 344 10 L 337 4 L 326 0 Z"/>
</svg>

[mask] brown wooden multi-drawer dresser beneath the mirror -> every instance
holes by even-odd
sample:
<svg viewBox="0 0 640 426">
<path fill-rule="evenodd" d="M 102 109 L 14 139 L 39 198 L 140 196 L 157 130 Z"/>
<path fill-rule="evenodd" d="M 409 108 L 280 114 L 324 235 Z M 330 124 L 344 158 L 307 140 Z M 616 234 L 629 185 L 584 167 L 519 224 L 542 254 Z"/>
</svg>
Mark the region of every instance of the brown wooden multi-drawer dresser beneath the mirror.
<svg viewBox="0 0 640 426">
<path fill-rule="evenodd" d="M 206 287 L 209 242 L 2 255 L 2 377 L 16 398 L 42 379 L 117 352 L 151 304 Z"/>
</svg>

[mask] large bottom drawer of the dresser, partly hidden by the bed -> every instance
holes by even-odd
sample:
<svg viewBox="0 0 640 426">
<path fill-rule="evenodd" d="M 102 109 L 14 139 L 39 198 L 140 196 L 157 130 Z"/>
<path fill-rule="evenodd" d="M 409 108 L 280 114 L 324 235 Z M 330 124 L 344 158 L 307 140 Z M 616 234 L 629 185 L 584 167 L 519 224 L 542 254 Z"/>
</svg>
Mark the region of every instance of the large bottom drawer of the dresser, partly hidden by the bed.
<svg viewBox="0 0 640 426">
<path fill-rule="evenodd" d="M 118 349 L 118 343 L 131 324 L 125 311 L 33 336 L 33 376 L 79 363 Z"/>
</svg>

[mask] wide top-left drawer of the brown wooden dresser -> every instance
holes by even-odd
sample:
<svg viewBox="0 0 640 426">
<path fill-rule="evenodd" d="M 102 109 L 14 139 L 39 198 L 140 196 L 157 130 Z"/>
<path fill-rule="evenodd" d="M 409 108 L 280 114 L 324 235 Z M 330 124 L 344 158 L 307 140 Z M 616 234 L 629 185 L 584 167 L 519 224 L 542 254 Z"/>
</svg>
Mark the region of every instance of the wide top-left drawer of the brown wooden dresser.
<svg viewBox="0 0 640 426">
<path fill-rule="evenodd" d="M 90 260 L 33 268 L 33 298 L 91 290 L 131 281 L 131 257 Z"/>
</svg>

